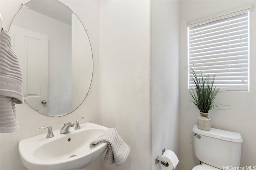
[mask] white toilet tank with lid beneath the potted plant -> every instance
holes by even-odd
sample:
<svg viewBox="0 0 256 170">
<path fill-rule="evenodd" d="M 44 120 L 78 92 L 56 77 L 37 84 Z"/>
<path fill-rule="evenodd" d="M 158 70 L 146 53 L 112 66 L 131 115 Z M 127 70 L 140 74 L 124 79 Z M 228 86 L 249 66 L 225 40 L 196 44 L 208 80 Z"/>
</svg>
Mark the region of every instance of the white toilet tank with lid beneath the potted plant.
<svg viewBox="0 0 256 170">
<path fill-rule="evenodd" d="M 193 128 L 194 152 L 206 164 L 220 169 L 240 166 L 243 139 L 240 133 L 211 128 L 210 131 Z"/>
</svg>

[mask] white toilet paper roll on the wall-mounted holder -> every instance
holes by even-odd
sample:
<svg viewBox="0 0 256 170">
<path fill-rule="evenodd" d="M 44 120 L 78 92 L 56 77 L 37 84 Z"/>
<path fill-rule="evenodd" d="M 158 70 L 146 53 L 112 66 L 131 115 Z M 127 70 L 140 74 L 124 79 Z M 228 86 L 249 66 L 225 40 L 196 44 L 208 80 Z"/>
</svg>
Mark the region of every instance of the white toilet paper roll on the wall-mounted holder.
<svg viewBox="0 0 256 170">
<path fill-rule="evenodd" d="M 173 168 L 176 168 L 179 162 L 178 157 L 172 150 L 166 150 L 161 156 L 160 160 L 168 162 L 168 166 L 164 166 L 161 164 L 162 170 L 172 170 Z"/>
</svg>

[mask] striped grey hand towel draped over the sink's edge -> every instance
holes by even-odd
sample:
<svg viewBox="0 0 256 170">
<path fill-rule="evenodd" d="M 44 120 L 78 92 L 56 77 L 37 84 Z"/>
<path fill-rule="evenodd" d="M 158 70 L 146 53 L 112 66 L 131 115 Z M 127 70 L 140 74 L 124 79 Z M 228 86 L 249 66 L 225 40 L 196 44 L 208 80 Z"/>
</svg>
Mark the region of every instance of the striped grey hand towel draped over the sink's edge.
<svg viewBox="0 0 256 170">
<path fill-rule="evenodd" d="M 106 132 L 94 139 L 90 143 L 90 149 L 97 147 L 102 143 L 108 143 L 108 150 L 104 158 L 106 166 L 122 165 L 128 158 L 130 147 L 120 137 L 115 128 L 109 128 Z"/>
</svg>

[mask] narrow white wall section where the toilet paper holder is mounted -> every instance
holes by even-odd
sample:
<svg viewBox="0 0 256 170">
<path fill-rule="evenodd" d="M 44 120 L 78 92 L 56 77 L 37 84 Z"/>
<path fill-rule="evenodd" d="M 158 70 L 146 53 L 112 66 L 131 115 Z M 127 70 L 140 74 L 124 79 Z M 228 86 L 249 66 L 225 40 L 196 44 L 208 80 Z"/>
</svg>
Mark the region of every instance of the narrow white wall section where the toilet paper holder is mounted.
<svg viewBox="0 0 256 170">
<path fill-rule="evenodd" d="M 151 1 L 151 169 L 164 147 L 179 157 L 178 63 L 179 1 Z"/>
</svg>

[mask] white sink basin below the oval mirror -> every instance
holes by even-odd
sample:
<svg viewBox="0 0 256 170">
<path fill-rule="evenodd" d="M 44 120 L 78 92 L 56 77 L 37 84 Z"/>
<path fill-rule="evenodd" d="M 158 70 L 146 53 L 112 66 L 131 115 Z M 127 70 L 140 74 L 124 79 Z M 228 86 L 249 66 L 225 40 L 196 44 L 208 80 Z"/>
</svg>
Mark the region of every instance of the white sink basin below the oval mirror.
<svg viewBox="0 0 256 170">
<path fill-rule="evenodd" d="M 29 170 L 74 170 L 84 168 L 96 160 L 107 149 L 102 143 L 90 149 L 90 142 L 102 135 L 108 128 L 94 123 L 82 123 L 81 129 L 70 127 L 70 132 L 46 139 L 46 133 L 23 139 L 19 142 L 22 163 Z"/>
</svg>

